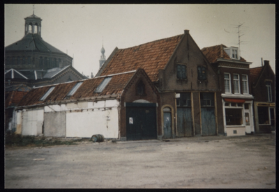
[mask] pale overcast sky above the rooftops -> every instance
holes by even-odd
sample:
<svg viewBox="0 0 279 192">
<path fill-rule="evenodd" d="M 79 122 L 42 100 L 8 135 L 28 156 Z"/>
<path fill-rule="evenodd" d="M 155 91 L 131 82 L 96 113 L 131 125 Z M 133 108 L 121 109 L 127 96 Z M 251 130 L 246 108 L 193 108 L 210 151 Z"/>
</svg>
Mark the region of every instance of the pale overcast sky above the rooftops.
<svg viewBox="0 0 279 192">
<path fill-rule="evenodd" d="M 239 47 L 250 67 L 268 60 L 275 72 L 275 4 L 34 4 L 43 40 L 73 57 L 73 67 L 95 76 L 100 49 L 108 58 L 125 49 L 190 30 L 199 49 Z M 33 4 L 5 4 L 5 47 L 24 37 Z M 239 33 L 238 33 L 238 26 Z"/>
</svg>

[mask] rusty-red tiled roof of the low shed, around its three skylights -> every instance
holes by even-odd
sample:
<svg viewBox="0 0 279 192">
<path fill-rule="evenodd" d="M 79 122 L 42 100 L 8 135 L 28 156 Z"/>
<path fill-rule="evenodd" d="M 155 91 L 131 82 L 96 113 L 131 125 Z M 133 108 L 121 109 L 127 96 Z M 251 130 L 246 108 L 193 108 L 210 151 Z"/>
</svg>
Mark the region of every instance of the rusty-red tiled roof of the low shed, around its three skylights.
<svg viewBox="0 0 279 192">
<path fill-rule="evenodd" d="M 127 72 L 125 74 L 116 74 L 112 75 L 112 79 L 105 86 L 105 89 L 101 93 L 94 93 L 94 90 L 100 85 L 100 83 L 105 79 L 105 77 L 96 77 L 93 79 L 86 79 L 83 81 L 80 88 L 69 98 L 69 99 L 82 99 L 88 97 L 96 97 L 100 95 L 116 95 L 121 94 L 123 88 L 125 88 L 126 83 L 133 77 L 135 72 Z M 75 86 L 77 82 L 81 81 L 73 81 L 69 83 L 61 83 L 51 86 L 43 86 L 39 88 L 33 88 L 25 97 L 22 102 L 20 102 L 19 106 L 29 106 L 35 104 L 43 104 L 44 102 L 60 102 L 67 96 L 70 90 Z M 52 93 L 48 95 L 44 101 L 40 101 L 40 98 L 45 95 L 47 90 L 49 90 L 52 86 L 55 86 Z"/>
</svg>

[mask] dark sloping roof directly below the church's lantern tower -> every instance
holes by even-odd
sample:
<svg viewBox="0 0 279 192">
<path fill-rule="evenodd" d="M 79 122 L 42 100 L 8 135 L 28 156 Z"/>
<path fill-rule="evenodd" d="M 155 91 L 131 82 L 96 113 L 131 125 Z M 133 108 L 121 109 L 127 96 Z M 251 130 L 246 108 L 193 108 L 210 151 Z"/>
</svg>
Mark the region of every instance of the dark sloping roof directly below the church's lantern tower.
<svg viewBox="0 0 279 192">
<path fill-rule="evenodd" d="M 6 51 L 47 51 L 64 54 L 49 43 L 45 42 L 38 34 L 28 33 L 22 40 L 5 47 Z"/>
</svg>

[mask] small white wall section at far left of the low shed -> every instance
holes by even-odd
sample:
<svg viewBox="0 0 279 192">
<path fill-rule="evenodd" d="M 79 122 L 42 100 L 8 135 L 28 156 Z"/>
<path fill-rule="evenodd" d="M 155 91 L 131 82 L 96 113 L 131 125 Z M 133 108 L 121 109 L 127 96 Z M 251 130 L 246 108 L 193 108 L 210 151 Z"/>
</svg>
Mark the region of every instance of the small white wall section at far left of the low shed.
<svg viewBox="0 0 279 192">
<path fill-rule="evenodd" d="M 22 135 L 42 134 L 43 114 L 43 109 L 22 111 Z"/>
</svg>

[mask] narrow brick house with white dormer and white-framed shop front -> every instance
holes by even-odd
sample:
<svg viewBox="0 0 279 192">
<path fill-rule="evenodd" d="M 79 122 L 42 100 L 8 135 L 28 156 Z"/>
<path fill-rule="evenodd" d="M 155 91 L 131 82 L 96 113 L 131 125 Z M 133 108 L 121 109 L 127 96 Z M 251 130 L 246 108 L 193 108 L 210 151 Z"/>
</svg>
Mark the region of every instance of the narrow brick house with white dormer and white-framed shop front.
<svg viewBox="0 0 279 192">
<path fill-rule="evenodd" d="M 255 133 L 253 99 L 250 87 L 250 62 L 239 56 L 237 47 L 216 45 L 202 49 L 216 70 L 222 93 L 225 135 L 239 136 Z"/>
</svg>

